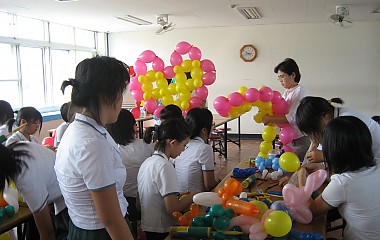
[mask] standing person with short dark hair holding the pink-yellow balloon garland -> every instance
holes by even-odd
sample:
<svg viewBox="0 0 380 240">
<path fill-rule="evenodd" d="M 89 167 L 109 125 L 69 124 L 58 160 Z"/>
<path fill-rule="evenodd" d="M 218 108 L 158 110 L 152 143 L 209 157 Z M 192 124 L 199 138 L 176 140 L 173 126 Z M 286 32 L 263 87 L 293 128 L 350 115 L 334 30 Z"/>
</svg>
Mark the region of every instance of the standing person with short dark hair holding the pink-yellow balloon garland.
<svg viewBox="0 0 380 240">
<path fill-rule="evenodd" d="M 290 144 L 294 153 L 300 160 L 303 160 L 306 151 L 310 146 L 309 138 L 306 137 L 296 125 L 296 110 L 302 98 L 307 96 L 306 89 L 299 85 L 301 80 L 301 73 L 297 63 L 291 59 L 286 58 L 283 62 L 279 63 L 274 72 L 281 85 L 286 89 L 282 97 L 288 103 L 288 113 L 283 116 L 263 116 L 263 123 L 268 125 L 275 124 L 289 124 L 294 133 L 294 140 Z"/>
</svg>

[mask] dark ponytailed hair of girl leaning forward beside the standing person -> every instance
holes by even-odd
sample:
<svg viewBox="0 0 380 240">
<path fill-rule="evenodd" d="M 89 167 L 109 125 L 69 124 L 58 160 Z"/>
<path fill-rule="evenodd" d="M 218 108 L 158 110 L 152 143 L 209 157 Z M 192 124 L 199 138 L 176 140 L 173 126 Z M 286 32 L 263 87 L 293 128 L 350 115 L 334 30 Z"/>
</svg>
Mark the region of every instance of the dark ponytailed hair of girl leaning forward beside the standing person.
<svg viewBox="0 0 380 240">
<path fill-rule="evenodd" d="M 321 97 L 304 97 L 296 112 L 296 123 L 301 132 L 322 139 L 322 119 L 326 114 L 334 115 L 334 106 L 331 103 L 343 104 L 344 102 L 340 98 L 326 100 Z"/>
</svg>

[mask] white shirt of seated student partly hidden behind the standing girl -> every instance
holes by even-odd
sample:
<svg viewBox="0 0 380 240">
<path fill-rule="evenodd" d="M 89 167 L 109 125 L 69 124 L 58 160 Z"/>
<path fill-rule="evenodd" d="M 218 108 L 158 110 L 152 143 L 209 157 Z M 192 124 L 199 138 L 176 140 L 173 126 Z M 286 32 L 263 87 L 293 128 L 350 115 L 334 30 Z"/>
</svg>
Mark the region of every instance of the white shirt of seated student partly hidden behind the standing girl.
<svg viewBox="0 0 380 240">
<path fill-rule="evenodd" d="M 153 145 L 144 143 L 142 139 L 135 139 L 126 146 L 119 144 L 119 150 L 123 165 L 127 169 L 127 181 L 123 187 L 124 196 L 137 197 L 137 174 L 145 159 L 152 156 Z"/>
</svg>

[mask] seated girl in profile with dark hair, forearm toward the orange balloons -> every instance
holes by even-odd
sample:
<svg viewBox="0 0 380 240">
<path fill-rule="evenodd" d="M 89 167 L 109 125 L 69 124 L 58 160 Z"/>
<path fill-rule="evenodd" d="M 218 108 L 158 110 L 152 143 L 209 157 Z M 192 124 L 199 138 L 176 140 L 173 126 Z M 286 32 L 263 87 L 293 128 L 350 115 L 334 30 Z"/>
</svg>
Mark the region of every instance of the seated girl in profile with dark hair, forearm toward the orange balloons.
<svg viewBox="0 0 380 240">
<path fill-rule="evenodd" d="M 169 227 L 176 224 L 172 213 L 186 209 L 196 194 L 191 192 L 179 200 L 176 172 L 169 161 L 185 150 L 189 139 L 190 130 L 183 119 L 165 120 L 158 127 L 156 151 L 140 167 L 141 228 L 147 239 L 165 239 Z"/>
</svg>

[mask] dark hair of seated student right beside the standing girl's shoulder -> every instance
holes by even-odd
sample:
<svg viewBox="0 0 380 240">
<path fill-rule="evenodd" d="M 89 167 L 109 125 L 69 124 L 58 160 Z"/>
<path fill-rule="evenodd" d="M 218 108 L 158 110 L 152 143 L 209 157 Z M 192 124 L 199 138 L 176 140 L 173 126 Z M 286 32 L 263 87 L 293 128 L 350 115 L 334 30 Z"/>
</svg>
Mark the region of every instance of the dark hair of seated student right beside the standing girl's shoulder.
<svg viewBox="0 0 380 240">
<path fill-rule="evenodd" d="M 136 120 L 133 114 L 126 109 L 121 109 L 117 121 L 108 124 L 107 130 L 117 144 L 125 146 L 135 139 L 135 125 Z"/>
</svg>

